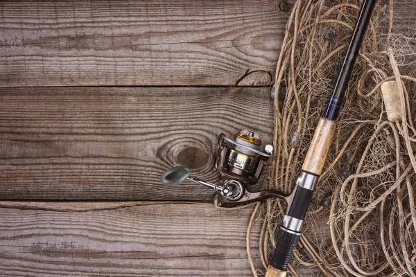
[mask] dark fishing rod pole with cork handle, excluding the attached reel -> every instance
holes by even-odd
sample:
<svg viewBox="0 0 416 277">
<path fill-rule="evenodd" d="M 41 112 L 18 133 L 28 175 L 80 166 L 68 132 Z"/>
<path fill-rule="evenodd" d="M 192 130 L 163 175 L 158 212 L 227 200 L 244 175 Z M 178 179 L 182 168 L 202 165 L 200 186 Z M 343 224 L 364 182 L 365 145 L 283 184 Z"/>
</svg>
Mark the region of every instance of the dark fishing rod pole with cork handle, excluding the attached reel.
<svg viewBox="0 0 416 277">
<path fill-rule="evenodd" d="M 266 277 L 285 277 L 287 274 L 293 249 L 300 239 L 302 224 L 309 202 L 322 173 L 324 163 L 327 160 L 329 145 L 331 145 L 335 132 L 338 111 L 343 102 L 343 96 L 347 90 L 356 55 L 361 48 L 361 42 L 365 30 L 367 30 L 375 3 L 376 0 L 365 0 L 361 6 L 345 60 L 340 69 L 324 117 L 320 118 L 318 126 L 315 129 L 293 193 L 289 197 L 286 197 L 286 213 L 283 217 L 279 234 L 277 235 L 277 246 L 270 260 Z"/>
</svg>

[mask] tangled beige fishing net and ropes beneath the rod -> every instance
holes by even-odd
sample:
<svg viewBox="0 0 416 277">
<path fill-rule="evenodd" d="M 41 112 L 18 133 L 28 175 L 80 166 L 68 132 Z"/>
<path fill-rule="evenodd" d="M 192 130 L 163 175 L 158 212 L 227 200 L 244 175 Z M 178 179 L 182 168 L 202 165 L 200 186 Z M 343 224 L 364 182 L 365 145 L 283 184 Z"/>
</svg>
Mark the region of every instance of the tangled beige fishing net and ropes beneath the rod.
<svg viewBox="0 0 416 277">
<path fill-rule="evenodd" d="M 354 28 L 360 1 L 296 1 L 277 61 L 275 157 L 267 186 L 290 193 Z M 324 172 L 309 206 L 289 271 L 319 267 L 323 276 L 415 276 L 415 39 L 392 33 L 393 5 L 379 3 L 349 81 Z M 401 120 L 386 116 L 381 84 L 395 80 Z M 248 227 L 254 276 L 276 245 L 284 206 L 257 204 Z M 250 232 L 263 220 L 261 264 Z M 328 220 L 328 228 L 322 224 Z"/>
</svg>

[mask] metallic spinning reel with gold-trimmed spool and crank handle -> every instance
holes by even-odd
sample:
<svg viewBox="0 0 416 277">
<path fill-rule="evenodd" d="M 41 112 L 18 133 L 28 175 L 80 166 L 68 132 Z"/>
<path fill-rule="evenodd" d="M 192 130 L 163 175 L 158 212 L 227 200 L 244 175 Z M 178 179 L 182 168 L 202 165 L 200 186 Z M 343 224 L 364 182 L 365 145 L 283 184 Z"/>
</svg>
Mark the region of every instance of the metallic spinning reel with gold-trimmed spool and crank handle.
<svg viewBox="0 0 416 277">
<path fill-rule="evenodd" d="M 164 172 L 161 182 L 175 186 L 184 180 L 193 181 L 216 191 L 214 204 L 221 208 L 234 208 L 272 197 L 285 198 L 275 190 L 251 193 L 247 186 L 259 180 L 266 161 L 271 157 L 272 145 L 262 145 L 257 133 L 243 130 L 229 139 L 225 134 L 218 137 L 216 169 L 220 172 L 219 184 L 213 184 L 189 176 L 191 170 L 177 166 Z"/>
</svg>

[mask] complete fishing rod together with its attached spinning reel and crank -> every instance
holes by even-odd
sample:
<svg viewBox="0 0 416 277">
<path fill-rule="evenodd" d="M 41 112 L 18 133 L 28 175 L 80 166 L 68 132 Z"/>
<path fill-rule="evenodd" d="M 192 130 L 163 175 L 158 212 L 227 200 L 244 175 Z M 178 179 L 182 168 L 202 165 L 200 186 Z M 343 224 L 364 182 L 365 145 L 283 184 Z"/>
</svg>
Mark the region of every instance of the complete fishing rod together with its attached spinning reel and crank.
<svg viewBox="0 0 416 277">
<path fill-rule="evenodd" d="M 219 184 L 189 176 L 191 170 L 184 166 L 166 170 L 160 180 L 166 186 L 175 186 L 187 180 L 211 188 L 216 192 L 214 205 L 217 208 L 235 208 L 268 198 L 284 200 L 286 213 L 277 235 L 277 247 L 270 260 L 266 277 L 284 277 L 287 274 L 288 263 L 300 239 L 309 202 L 311 202 L 313 191 L 327 159 L 329 145 L 331 145 L 335 131 L 335 120 L 338 117 L 343 95 L 347 90 L 356 55 L 361 48 L 361 41 L 375 3 L 376 0 L 363 2 L 343 66 L 333 89 L 333 95 L 328 102 L 324 117 L 320 118 L 315 129 L 302 170 L 291 194 L 285 195 L 276 190 L 251 192 L 248 189 L 249 185 L 259 180 L 273 152 L 272 145 L 263 144 L 259 134 L 248 129 L 238 132 L 233 139 L 227 138 L 225 134 L 218 136 L 216 169 L 220 173 Z"/>
</svg>

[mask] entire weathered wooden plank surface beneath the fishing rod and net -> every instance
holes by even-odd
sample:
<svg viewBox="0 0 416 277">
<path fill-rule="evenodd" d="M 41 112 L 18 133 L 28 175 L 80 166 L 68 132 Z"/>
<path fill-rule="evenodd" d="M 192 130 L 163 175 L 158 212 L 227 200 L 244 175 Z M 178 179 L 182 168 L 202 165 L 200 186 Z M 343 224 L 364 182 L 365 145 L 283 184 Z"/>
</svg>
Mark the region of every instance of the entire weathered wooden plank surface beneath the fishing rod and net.
<svg viewBox="0 0 416 277">
<path fill-rule="evenodd" d="M 1 1 L 0 86 L 270 84 L 288 18 L 280 2 Z M 414 22 L 415 3 L 395 1 L 394 35 L 414 36 Z M 190 183 L 160 186 L 160 174 L 182 163 L 216 181 L 220 132 L 254 126 L 270 141 L 269 92 L 0 89 L 0 199 L 211 201 Z M 0 202 L 0 276 L 252 276 L 251 211 Z M 259 220 L 252 249 L 258 238 Z"/>
</svg>

